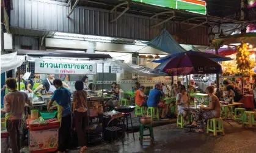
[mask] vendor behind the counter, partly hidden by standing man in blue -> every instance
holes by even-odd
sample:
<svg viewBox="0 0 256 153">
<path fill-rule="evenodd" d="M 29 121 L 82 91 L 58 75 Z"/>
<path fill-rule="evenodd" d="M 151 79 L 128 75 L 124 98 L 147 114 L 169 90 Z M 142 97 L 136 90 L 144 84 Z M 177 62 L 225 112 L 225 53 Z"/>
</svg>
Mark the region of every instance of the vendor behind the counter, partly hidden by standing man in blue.
<svg viewBox="0 0 256 153">
<path fill-rule="evenodd" d="M 54 91 L 56 90 L 56 88 L 53 85 L 54 74 L 47 74 L 47 76 L 48 77 L 45 80 L 43 80 L 42 84 L 38 85 L 38 87 L 35 88 L 34 93 L 37 93 L 37 91 L 39 91 L 43 87 L 45 87 L 48 93 L 54 93 Z M 64 87 L 70 90 L 70 87 L 65 82 L 62 82 L 62 84 Z"/>
</svg>

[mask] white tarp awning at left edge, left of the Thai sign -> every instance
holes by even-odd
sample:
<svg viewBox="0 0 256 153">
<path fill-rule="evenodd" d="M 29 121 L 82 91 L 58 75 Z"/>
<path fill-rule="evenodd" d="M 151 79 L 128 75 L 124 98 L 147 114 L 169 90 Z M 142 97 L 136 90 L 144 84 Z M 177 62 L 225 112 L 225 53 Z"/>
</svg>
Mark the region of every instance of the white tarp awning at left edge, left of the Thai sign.
<svg viewBox="0 0 256 153">
<path fill-rule="evenodd" d="M 17 55 L 16 52 L 1 55 L 1 73 L 18 68 L 25 61 L 24 55 Z"/>
</svg>

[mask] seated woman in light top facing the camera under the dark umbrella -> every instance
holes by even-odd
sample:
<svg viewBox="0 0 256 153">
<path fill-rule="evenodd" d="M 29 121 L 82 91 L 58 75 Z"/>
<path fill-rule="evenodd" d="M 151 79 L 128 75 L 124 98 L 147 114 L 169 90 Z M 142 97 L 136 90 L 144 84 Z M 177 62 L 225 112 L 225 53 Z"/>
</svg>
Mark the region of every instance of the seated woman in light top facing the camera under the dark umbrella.
<svg viewBox="0 0 256 153">
<path fill-rule="evenodd" d="M 186 109 L 188 109 L 188 95 L 186 93 L 186 87 L 185 85 L 180 85 L 178 87 L 180 90 L 180 93 L 176 96 L 176 105 L 178 105 L 178 113 L 183 116 L 183 118 L 186 120 L 187 112 Z"/>
</svg>

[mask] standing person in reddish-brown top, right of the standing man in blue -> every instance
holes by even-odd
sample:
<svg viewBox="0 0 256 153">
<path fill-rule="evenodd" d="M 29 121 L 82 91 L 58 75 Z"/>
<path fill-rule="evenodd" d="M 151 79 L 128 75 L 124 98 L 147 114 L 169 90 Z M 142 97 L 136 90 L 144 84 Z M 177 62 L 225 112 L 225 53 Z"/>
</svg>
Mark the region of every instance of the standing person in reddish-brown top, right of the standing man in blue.
<svg viewBox="0 0 256 153">
<path fill-rule="evenodd" d="M 76 91 L 73 93 L 73 110 L 75 113 L 75 127 L 78 135 L 78 141 L 80 148 L 80 153 L 83 153 L 86 148 L 86 126 L 88 125 L 88 102 L 87 93 L 82 90 L 84 88 L 84 83 L 81 80 L 77 80 L 75 83 Z"/>
</svg>

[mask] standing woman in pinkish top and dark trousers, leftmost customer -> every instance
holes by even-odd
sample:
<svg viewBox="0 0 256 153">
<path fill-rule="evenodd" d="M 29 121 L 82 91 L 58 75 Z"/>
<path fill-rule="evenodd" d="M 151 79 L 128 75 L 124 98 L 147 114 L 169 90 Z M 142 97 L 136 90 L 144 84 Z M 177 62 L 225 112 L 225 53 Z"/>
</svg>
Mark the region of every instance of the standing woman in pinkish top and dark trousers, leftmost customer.
<svg viewBox="0 0 256 153">
<path fill-rule="evenodd" d="M 5 113 L 6 129 L 10 135 L 12 152 L 19 153 L 21 149 L 20 127 L 21 119 L 24 118 L 24 107 L 26 104 L 32 107 L 32 103 L 26 93 L 16 90 L 15 79 L 9 78 L 5 80 L 5 84 L 9 93 L 4 96 L 4 109 L 1 109 L 1 112 Z"/>
</svg>

